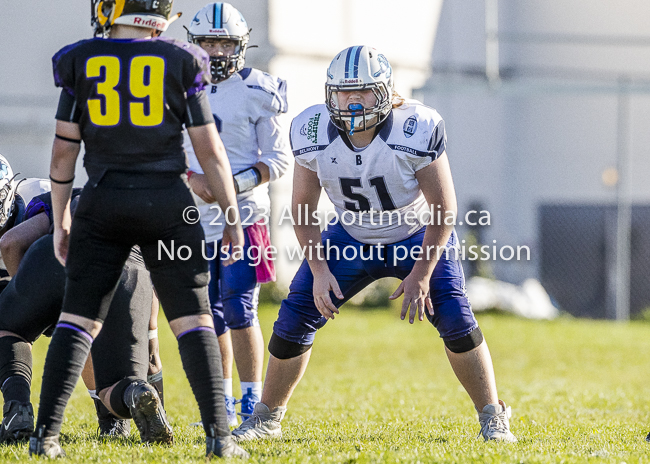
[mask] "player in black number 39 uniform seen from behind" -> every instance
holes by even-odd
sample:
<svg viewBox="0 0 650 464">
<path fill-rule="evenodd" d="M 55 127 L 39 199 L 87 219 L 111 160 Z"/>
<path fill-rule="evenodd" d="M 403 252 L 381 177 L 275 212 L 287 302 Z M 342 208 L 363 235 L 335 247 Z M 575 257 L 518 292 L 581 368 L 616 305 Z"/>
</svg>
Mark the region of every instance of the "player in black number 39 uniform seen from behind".
<svg viewBox="0 0 650 464">
<path fill-rule="evenodd" d="M 236 205 L 232 173 L 204 92 L 208 56 L 194 45 L 157 38 L 169 24 L 172 3 L 91 0 L 96 35 L 110 29 L 109 37 L 82 40 L 53 57 L 62 88 L 50 166 L 54 252 L 65 264 L 66 288 L 45 360 L 31 455 L 65 455 L 58 438 L 65 406 L 131 247 L 139 245 L 198 402 L 206 455 L 248 456 L 230 435 L 221 364 L 214 363 L 221 355 L 201 255 L 203 231 L 183 219 L 194 204 L 181 179 L 183 125 L 224 210 Z M 89 180 L 72 220 L 70 192 L 82 140 Z M 243 245 L 237 216 L 225 227 L 225 245 Z M 180 247 L 189 248 L 188 259 L 159 251 Z M 131 403 L 154 430 L 153 441 L 164 439 L 168 431 L 159 427 L 162 407 L 153 387 L 125 379 L 111 395 Z"/>
</svg>

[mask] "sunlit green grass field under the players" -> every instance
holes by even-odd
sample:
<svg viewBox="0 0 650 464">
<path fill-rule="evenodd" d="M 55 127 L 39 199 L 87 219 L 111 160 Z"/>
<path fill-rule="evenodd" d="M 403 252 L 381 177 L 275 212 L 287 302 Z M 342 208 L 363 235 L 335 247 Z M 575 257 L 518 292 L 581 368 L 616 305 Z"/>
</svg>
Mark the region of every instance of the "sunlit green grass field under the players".
<svg viewBox="0 0 650 464">
<path fill-rule="evenodd" d="M 260 311 L 267 338 L 276 310 Z M 344 309 L 317 337 L 284 439 L 245 448 L 259 462 L 650 462 L 649 324 L 498 314 L 479 322 L 518 444 L 476 438 L 476 413 L 428 323 L 410 326 L 397 311 Z M 198 410 L 166 323 L 160 336 L 175 445 L 141 445 L 135 427 L 130 440 L 100 441 L 79 384 L 63 426 L 68 461 L 204 460 L 202 430 L 188 425 Z M 34 348 L 35 406 L 46 344 Z M 0 447 L 0 462 L 26 459 L 26 445 Z"/>
</svg>

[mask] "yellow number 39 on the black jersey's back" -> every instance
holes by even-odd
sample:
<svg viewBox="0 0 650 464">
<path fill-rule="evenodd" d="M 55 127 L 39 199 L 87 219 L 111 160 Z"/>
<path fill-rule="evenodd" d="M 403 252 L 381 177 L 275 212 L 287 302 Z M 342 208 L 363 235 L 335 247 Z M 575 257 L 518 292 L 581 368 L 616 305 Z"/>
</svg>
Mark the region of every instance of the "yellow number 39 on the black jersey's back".
<svg viewBox="0 0 650 464">
<path fill-rule="evenodd" d="M 86 77 L 97 81 L 97 93 L 103 98 L 88 99 L 90 121 L 96 126 L 116 126 L 121 120 L 121 63 L 116 56 L 95 56 L 86 62 Z M 129 103 L 131 124 L 157 126 L 163 122 L 165 60 L 159 56 L 136 56 L 131 60 L 129 90 L 136 101 Z M 140 101 L 141 100 L 141 101 Z M 148 107 L 148 108 L 147 108 Z M 148 111 L 147 111 L 148 110 Z"/>
</svg>

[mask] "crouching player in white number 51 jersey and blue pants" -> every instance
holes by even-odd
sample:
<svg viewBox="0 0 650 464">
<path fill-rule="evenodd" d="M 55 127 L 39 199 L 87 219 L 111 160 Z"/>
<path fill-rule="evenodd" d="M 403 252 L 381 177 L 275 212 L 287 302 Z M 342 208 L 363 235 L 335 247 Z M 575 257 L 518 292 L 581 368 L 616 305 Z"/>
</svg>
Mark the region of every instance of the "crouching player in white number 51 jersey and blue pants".
<svg viewBox="0 0 650 464">
<path fill-rule="evenodd" d="M 516 441 L 510 408 L 497 396 L 490 353 L 465 294 L 453 224 L 437 220 L 438 209 L 456 212 L 440 115 L 393 91 L 384 55 L 350 47 L 329 66 L 326 103 L 293 120 L 291 146 L 294 220 L 301 210 L 316 210 L 320 185 L 341 221 L 322 235 L 304 217 L 295 226 L 311 258 L 282 302 L 261 401 L 233 432 L 235 438 L 281 436 L 280 421 L 307 368 L 317 329 L 372 281 L 398 277 L 402 283 L 391 299 L 403 294 L 402 319 L 408 314 L 413 323 L 426 315 L 440 333 L 479 412 L 484 439 Z M 438 256 L 443 247 L 451 253 Z"/>
</svg>

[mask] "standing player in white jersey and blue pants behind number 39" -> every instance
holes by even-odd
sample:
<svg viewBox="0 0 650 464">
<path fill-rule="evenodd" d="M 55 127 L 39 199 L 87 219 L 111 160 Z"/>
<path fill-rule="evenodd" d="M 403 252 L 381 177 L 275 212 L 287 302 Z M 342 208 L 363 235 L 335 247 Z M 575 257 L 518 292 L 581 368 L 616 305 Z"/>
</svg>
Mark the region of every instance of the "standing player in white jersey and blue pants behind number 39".
<svg viewBox="0 0 650 464">
<path fill-rule="evenodd" d="M 210 55 L 212 85 L 207 94 L 234 175 L 237 203 L 246 244 L 245 259 L 224 267 L 219 257 L 210 262 L 210 306 L 223 364 L 228 423 L 237 425 L 232 387 L 233 357 L 241 382 L 241 412 L 252 414 L 262 394 L 264 339 L 257 317 L 260 284 L 275 280 L 272 261 L 253 266 L 251 246 L 270 245 L 271 208 L 268 182 L 289 166 L 289 145 L 279 115 L 287 111 L 286 83 L 269 74 L 244 68 L 249 29 L 244 17 L 229 3 L 210 3 L 192 20 L 188 40 Z M 223 234 L 223 212 L 186 139 L 188 180 L 201 212 L 206 241 L 218 243 Z M 217 249 L 219 249 L 219 245 Z M 207 256 L 216 256 L 211 247 Z M 259 256 L 259 255 L 258 255 Z M 262 254 L 263 256 L 263 254 Z M 234 356 L 233 356 L 234 355 Z"/>
</svg>

